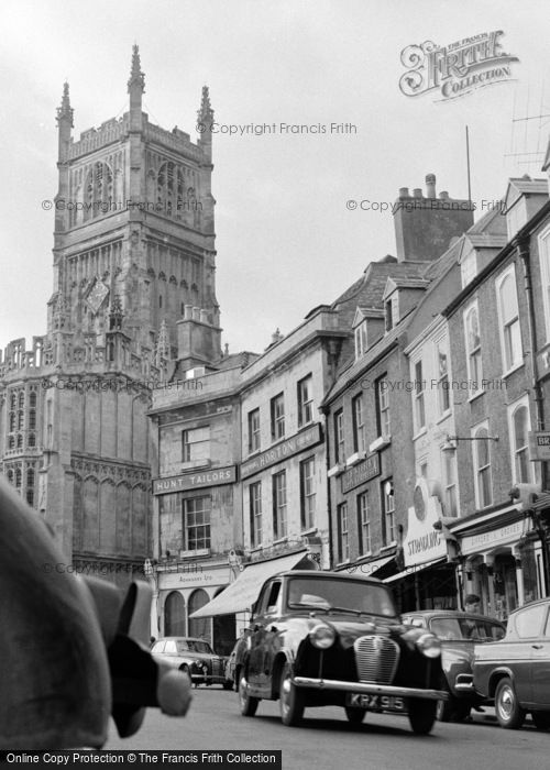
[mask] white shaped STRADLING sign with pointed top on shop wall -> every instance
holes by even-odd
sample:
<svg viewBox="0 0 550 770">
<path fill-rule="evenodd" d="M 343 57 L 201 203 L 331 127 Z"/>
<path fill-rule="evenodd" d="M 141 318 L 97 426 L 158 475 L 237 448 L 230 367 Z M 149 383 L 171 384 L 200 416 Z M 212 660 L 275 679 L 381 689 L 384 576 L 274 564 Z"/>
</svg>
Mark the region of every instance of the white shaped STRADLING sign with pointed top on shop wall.
<svg viewBox="0 0 550 770">
<path fill-rule="evenodd" d="M 447 540 L 433 525 L 441 518 L 439 497 L 430 495 L 425 479 L 417 479 L 414 505 L 408 509 L 407 535 L 403 539 L 405 566 L 447 556 Z"/>
</svg>

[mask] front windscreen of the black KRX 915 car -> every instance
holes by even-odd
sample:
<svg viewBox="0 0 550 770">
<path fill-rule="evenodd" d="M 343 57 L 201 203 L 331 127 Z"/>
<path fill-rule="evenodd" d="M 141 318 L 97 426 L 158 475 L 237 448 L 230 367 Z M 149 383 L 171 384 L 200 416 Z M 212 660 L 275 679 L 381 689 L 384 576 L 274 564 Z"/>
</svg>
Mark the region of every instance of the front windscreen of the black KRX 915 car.
<svg viewBox="0 0 550 770">
<path fill-rule="evenodd" d="M 349 609 L 367 615 L 396 617 L 397 612 L 384 585 L 363 581 L 295 578 L 288 585 L 288 606 L 329 610 Z"/>
</svg>

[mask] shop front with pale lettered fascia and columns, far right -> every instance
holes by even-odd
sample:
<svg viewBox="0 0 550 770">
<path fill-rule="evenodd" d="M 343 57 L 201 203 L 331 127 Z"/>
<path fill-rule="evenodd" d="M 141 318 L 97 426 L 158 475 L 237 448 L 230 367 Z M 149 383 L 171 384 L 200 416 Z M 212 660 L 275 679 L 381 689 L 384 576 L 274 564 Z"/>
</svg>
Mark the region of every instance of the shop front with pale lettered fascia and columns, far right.
<svg viewBox="0 0 550 770">
<path fill-rule="evenodd" d="M 463 595 L 475 594 L 481 612 L 505 622 L 517 607 L 543 595 L 540 541 L 517 507 L 453 527 L 462 556 Z"/>
</svg>

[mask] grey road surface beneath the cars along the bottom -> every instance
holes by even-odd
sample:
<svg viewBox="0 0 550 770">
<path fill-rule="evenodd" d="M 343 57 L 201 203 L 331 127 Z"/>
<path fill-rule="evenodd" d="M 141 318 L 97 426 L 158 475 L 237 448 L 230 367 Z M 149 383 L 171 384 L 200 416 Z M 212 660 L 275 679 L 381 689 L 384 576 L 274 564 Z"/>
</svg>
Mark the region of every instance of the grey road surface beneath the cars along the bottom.
<svg viewBox="0 0 550 770">
<path fill-rule="evenodd" d="M 278 703 L 263 701 L 256 716 L 239 713 L 237 693 L 198 688 L 187 717 L 148 710 L 141 730 L 121 740 L 114 726 L 106 749 L 282 749 L 284 770 L 540 770 L 548 767 L 550 735 L 528 718 L 520 730 L 504 730 L 493 711 L 474 723 L 436 723 L 430 736 L 409 730 L 406 716 L 367 714 L 350 725 L 343 710 L 310 708 L 301 727 L 284 727 Z"/>
</svg>

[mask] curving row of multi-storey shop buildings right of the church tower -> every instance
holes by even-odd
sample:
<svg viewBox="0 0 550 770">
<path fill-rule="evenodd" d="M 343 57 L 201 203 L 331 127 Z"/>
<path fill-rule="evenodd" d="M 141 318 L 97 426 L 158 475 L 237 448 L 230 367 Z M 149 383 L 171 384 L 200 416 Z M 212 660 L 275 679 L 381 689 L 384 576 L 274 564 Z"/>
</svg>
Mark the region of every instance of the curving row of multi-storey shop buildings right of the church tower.
<svg viewBox="0 0 550 770">
<path fill-rule="evenodd" d="M 297 564 L 381 578 L 403 610 L 548 593 L 548 183 L 510 179 L 475 224 L 435 183 L 400 189 L 396 256 L 155 392 L 155 636 L 228 651 Z"/>
</svg>

